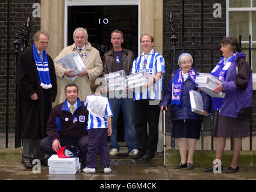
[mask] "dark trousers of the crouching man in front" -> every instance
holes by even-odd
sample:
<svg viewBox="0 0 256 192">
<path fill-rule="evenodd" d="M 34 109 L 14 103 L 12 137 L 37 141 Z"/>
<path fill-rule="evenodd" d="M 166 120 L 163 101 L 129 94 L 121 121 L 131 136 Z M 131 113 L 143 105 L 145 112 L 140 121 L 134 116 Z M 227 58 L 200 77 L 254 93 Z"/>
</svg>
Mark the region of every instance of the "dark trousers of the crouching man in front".
<svg viewBox="0 0 256 192">
<path fill-rule="evenodd" d="M 79 149 L 80 153 L 78 157 L 80 158 L 81 163 L 86 160 L 88 135 L 82 135 L 81 137 L 78 137 L 78 139 L 65 139 L 60 137 L 60 146 L 62 147 L 66 145 L 74 145 Z M 57 154 L 57 152 L 52 149 L 52 141 L 49 140 L 48 137 L 45 137 L 45 139 L 40 142 L 40 148 L 45 154 L 49 155 L 49 157 L 53 154 Z"/>
</svg>

